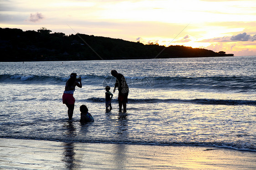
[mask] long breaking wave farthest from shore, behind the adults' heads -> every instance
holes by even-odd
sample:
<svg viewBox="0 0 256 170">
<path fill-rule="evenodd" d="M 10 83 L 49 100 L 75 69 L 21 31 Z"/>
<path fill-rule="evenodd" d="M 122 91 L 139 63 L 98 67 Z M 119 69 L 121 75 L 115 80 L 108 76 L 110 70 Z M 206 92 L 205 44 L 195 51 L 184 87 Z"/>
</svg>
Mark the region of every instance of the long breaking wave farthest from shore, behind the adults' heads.
<svg viewBox="0 0 256 170">
<path fill-rule="evenodd" d="M 61 83 L 69 77 L 59 75 L 0 75 L 0 82 L 16 83 Z M 113 86 L 115 78 L 105 75 L 81 75 L 82 82 L 86 85 Z M 184 89 L 184 90 L 229 90 L 238 92 L 256 92 L 256 77 L 250 76 L 151 76 L 138 77 L 126 76 L 130 88 L 152 89 Z"/>
</svg>

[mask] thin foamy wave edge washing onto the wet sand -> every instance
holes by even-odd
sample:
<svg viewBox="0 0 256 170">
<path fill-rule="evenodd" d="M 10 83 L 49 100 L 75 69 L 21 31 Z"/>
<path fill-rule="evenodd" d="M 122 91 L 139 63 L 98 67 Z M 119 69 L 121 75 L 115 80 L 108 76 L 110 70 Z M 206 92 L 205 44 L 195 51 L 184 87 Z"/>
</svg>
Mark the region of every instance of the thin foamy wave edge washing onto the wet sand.
<svg viewBox="0 0 256 170">
<path fill-rule="evenodd" d="M 45 138 L 31 138 L 31 137 L 11 137 L 11 136 L 0 136 L 0 138 L 7 139 L 23 139 L 23 140 L 45 140 L 45 141 L 56 141 L 56 142 L 68 142 L 68 143 L 102 143 L 102 144 L 128 144 L 128 145 L 160 145 L 160 146 L 204 146 L 204 147 L 215 147 L 225 148 L 240 151 L 256 152 L 256 148 L 247 147 L 244 145 L 233 145 L 230 143 L 214 143 L 214 142 L 140 142 L 140 141 L 111 141 L 111 140 L 74 140 L 74 139 L 45 139 Z"/>
</svg>

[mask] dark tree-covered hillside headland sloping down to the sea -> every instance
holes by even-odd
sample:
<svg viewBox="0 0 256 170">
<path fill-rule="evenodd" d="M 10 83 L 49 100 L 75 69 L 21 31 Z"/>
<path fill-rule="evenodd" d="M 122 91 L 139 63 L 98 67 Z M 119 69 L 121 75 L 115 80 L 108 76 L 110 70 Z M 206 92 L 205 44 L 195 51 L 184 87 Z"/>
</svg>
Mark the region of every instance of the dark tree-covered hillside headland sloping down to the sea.
<svg viewBox="0 0 256 170">
<path fill-rule="evenodd" d="M 163 50 L 163 51 L 162 51 Z M 162 52 L 161 52 L 162 51 Z M 161 52 L 161 53 L 160 53 Z M 0 61 L 118 60 L 233 56 L 212 50 L 130 42 L 94 35 L 51 33 L 51 30 L 0 28 Z M 160 55 L 159 55 L 160 53 Z"/>
</svg>

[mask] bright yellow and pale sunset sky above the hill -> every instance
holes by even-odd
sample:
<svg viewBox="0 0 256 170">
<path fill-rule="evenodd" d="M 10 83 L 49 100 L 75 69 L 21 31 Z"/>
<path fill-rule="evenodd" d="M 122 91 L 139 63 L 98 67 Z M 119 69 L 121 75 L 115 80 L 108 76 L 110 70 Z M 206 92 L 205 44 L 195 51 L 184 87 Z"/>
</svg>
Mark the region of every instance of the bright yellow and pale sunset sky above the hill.
<svg viewBox="0 0 256 170">
<path fill-rule="evenodd" d="M 256 55 L 256 0 L 0 0 L 0 28 Z"/>
</svg>

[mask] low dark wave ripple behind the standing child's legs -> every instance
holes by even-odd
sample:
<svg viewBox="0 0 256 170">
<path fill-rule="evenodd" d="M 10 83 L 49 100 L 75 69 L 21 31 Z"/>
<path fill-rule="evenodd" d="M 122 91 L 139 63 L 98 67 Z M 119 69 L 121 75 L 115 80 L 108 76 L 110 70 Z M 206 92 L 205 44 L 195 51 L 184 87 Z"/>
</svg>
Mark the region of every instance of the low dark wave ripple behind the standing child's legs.
<svg viewBox="0 0 256 170">
<path fill-rule="evenodd" d="M 105 102 L 105 98 L 92 97 L 91 102 Z M 117 102 L 117 99 L 113 99 Z M 256 100 L 221 100 L 221 99 L 128 99 L 129 103 L 191 103 L 200 105 L 256 105 Z"/>
</svg>

